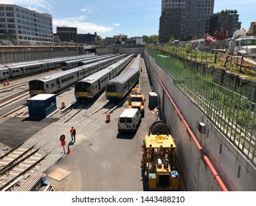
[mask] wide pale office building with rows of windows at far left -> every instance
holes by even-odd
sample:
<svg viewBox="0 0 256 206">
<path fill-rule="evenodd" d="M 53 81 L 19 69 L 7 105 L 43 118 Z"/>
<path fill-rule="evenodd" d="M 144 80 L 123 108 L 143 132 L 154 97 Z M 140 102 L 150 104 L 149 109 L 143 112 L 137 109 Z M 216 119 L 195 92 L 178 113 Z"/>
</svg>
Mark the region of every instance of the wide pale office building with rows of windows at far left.
<svg viewBox="0 0 256 206">
<path fill-rule="evenodd" d="M 0 4 L 0 40 L 11 40 L 18 45 L 52 43 L 52 15 Z"/>
</svg>

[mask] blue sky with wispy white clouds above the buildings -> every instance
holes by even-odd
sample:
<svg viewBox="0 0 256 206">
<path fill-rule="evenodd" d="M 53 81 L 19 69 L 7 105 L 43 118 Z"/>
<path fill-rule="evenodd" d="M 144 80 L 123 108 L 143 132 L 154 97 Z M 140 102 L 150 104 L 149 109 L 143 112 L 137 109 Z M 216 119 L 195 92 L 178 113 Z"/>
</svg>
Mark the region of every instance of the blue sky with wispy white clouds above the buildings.
<svg viewBox="0 0 256 206">
<path fill-rule="evenodd" d="M 113 35 L 158 35 L 161 0 L 0 0 L 0 4 L 17 4 L 38 13 L 52 15 L 56 26 L 77 27 L 77 33 L 97 32 L 102 38 Z M 255 0 L 215 0 L 214 13 L 238 10 L 239 21 L 248 31 L 256 21 Z"/>
</svg>

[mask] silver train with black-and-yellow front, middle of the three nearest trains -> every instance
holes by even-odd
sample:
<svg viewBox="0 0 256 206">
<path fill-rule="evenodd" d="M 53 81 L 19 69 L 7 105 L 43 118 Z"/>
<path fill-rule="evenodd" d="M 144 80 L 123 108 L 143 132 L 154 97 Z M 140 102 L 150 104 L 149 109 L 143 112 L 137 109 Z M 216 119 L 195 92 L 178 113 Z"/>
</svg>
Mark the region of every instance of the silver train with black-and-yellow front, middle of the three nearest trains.
<svg viewBox="0 0 256 206">
<path fill-rule="evenodd" d="M 123 60 L 114 63 L 101 71 L 98 71 L 89 77 L 79 80 L 75 83 L 75 99 L 85 101 L 94 99 L 97 94 L 105 90 L 106 83 L 116 77 L 129 62 L 134 54 L 125 57 Z"/>
</svg>

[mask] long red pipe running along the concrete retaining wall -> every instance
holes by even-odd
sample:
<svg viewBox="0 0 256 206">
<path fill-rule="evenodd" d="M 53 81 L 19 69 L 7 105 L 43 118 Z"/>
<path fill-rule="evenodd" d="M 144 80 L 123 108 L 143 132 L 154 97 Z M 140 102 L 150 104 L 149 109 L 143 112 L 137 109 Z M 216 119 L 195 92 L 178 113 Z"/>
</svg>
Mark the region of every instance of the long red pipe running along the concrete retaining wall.
<svg viewBox="0 0 256 206">
<path fill-rule="evenodd" d="M 170 99 L 170 102 L 173 104 L 173 107 L 177 111 L 179 118 L 181 118 L 181 121 L 184 123 L 188 134 L 191 138 L 193 138 L 193 141 L 196 143 L 196 147 L 198 148 L 199 152 L 201 153 L 201 157 L 204 158 L 204 161 L 207 163 L 207 166 L 210 168 L 210 171 L 213 174 L 213 177 L 218 182 L 218 185 L 221 187 L 222 191 L 228 191 L 226 188 L 226 185 L 224 185 L 224 182 L 222 182 L 221 177 L 218 175 L 217 171 L 215 170 L 214 166 L 212 166 L 212 163 L 210 162 L 209 158 L 207 157 L 207 154 L 205 154 L 204 149 L 201 147 L 200 143 L 198 142 L 196 136 L 193 134 L 192 130 L 187 124 L 187 121 L 184 119 L 184 117 L 181 115 L 181 112 L 179 111 L 179 108 L 174 103 L 173 99 L 171 98 L 170 94 L 167 92 L 165 85 L 162 83 L 159 76 L 156 74 L 156 71 L 152 68 L 153 73 L 156 75 L 156 78 L 158 79 L 159 83 L 162 85 L 163 90 L 165 90 L 165 93 L 167 94 L 168 99 Z"/>
</svg>

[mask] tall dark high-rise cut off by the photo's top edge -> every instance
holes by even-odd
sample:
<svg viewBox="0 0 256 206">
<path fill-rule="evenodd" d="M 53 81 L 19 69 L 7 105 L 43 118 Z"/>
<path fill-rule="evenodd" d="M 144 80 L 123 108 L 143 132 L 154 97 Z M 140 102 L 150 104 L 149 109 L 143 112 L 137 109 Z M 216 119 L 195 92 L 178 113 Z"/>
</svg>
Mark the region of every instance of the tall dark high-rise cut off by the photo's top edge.
<svg viewBox="0 0 256 206">
<path fill-rule="evenodd" d="M 162 0 L 159 42 L 189 40 L 210 30 L 214 0 Z"/>
</svg>

